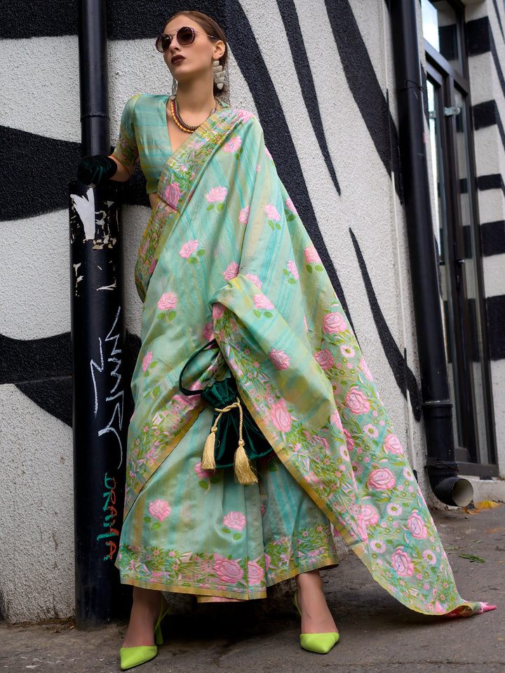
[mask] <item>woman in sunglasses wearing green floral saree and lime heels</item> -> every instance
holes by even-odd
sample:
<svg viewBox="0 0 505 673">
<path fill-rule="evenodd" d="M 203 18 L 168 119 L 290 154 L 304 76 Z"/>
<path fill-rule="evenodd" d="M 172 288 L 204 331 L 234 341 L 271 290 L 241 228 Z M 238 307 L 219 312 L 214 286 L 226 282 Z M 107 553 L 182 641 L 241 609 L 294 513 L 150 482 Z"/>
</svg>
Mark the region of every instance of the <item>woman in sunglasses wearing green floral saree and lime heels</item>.
<svg viewBox="0 0 505 673">
<path fill-rule="evenodd" d="M 134 587 L 121 667 L 156 655 L 161 590 L 253 599 L 293 576 L 302 647 L 328 652 L 338 632 L 318 569 L 337 564 L 330 522 L 410 608 L 492 609 L 457 594 L 260 125 L 215 99 L 227 58 L 222 30 L 206 15 L 178 12 L 157 46 L 177 81 L 175 100 L 130 99 L 114 154 L 84 158 L 79 171 L 88 183 L 126 180 L 140 153 L 153 208 L 135 268 L 144 310 L 117 559 Z M 253 465 L 257 482 L 201 464 L 213 409 L 201 395 L 183 395 L 179 377 L 213 338 L 219 350 L 201 351 L 191 387 L 233 374 L 272 449 Z"/>
</svg>

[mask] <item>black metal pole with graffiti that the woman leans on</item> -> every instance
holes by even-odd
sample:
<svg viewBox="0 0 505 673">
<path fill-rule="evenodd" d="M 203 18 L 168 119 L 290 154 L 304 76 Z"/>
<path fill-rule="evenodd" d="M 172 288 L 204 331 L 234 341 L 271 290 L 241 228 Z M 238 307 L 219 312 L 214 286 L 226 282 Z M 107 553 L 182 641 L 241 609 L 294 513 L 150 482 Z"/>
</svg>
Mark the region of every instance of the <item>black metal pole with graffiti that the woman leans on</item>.
<svg viewBox="0 0 505 673">
<path fill-rule="evenodd" d="M 79 0 L 83 154 L 109 154 L 105 0 Z M 122 608 L 114 561 L 123 510 L 125 333 L 114 188 L 72 182 L 70 273 L 74 388 L 76 626 Z"/>
</svg>

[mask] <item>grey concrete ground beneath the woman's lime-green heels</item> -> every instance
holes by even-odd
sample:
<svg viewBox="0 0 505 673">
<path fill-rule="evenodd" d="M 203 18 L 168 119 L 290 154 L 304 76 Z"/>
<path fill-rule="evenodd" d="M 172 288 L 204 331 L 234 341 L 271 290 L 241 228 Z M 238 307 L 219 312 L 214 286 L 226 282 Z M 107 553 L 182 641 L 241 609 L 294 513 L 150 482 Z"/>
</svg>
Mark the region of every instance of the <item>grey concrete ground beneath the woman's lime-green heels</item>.
<svg viewBox="0 0 505 673">
<path fill-rule="evenodd" d="M 470 619 L 414 613 L 379 587 L 354 555 L 325 572 L 340 641 L 303 651 L 289 585 L 275 600 L 205 604 L 163 622 L 166 644 L 139 673 L 504 673 L 505 505 L 435 512 L 460 594 L 498 605 Z M 471 561 L 473 555 L 485 562 Z M 126 625 L 78 631 L 72 622 L 0 625 L 0 673 L 113 673 Z"/>
</svg>

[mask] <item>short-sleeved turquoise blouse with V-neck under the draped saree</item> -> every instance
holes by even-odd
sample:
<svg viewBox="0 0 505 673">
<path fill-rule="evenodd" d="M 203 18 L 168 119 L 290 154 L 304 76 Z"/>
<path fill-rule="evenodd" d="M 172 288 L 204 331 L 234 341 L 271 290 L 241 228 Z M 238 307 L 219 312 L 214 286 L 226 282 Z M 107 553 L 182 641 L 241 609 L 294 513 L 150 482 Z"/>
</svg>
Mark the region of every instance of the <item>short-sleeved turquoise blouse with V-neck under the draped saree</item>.
<svg viewBox="0 0 505 673">
<path fill-rule="evenodd" d="M 147 193 L 158 189 L 161 170 L 172 154 L 166 122 L 168 95 L 140 94 L 126 103 L 113 156 L 125 166 L 140 168 L 147 180 Z"/>
</svg>

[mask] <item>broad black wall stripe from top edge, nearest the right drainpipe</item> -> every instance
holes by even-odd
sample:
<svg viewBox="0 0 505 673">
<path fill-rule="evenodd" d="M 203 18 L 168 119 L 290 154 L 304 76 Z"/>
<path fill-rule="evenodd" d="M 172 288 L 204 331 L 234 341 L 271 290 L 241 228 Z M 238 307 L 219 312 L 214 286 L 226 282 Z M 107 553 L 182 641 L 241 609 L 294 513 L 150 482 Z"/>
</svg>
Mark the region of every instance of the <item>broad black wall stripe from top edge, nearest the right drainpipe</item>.
<svg viewBox="0 0 505 673">
<path fill-rule="evenodd" d="M 325 6 L 347 83 L 384 168 L 388 175 L 395 173 L 396 192 L 403 201 L 398 132 L 351 6 L 348 0 L 325 0 Z"/>
</svg>

